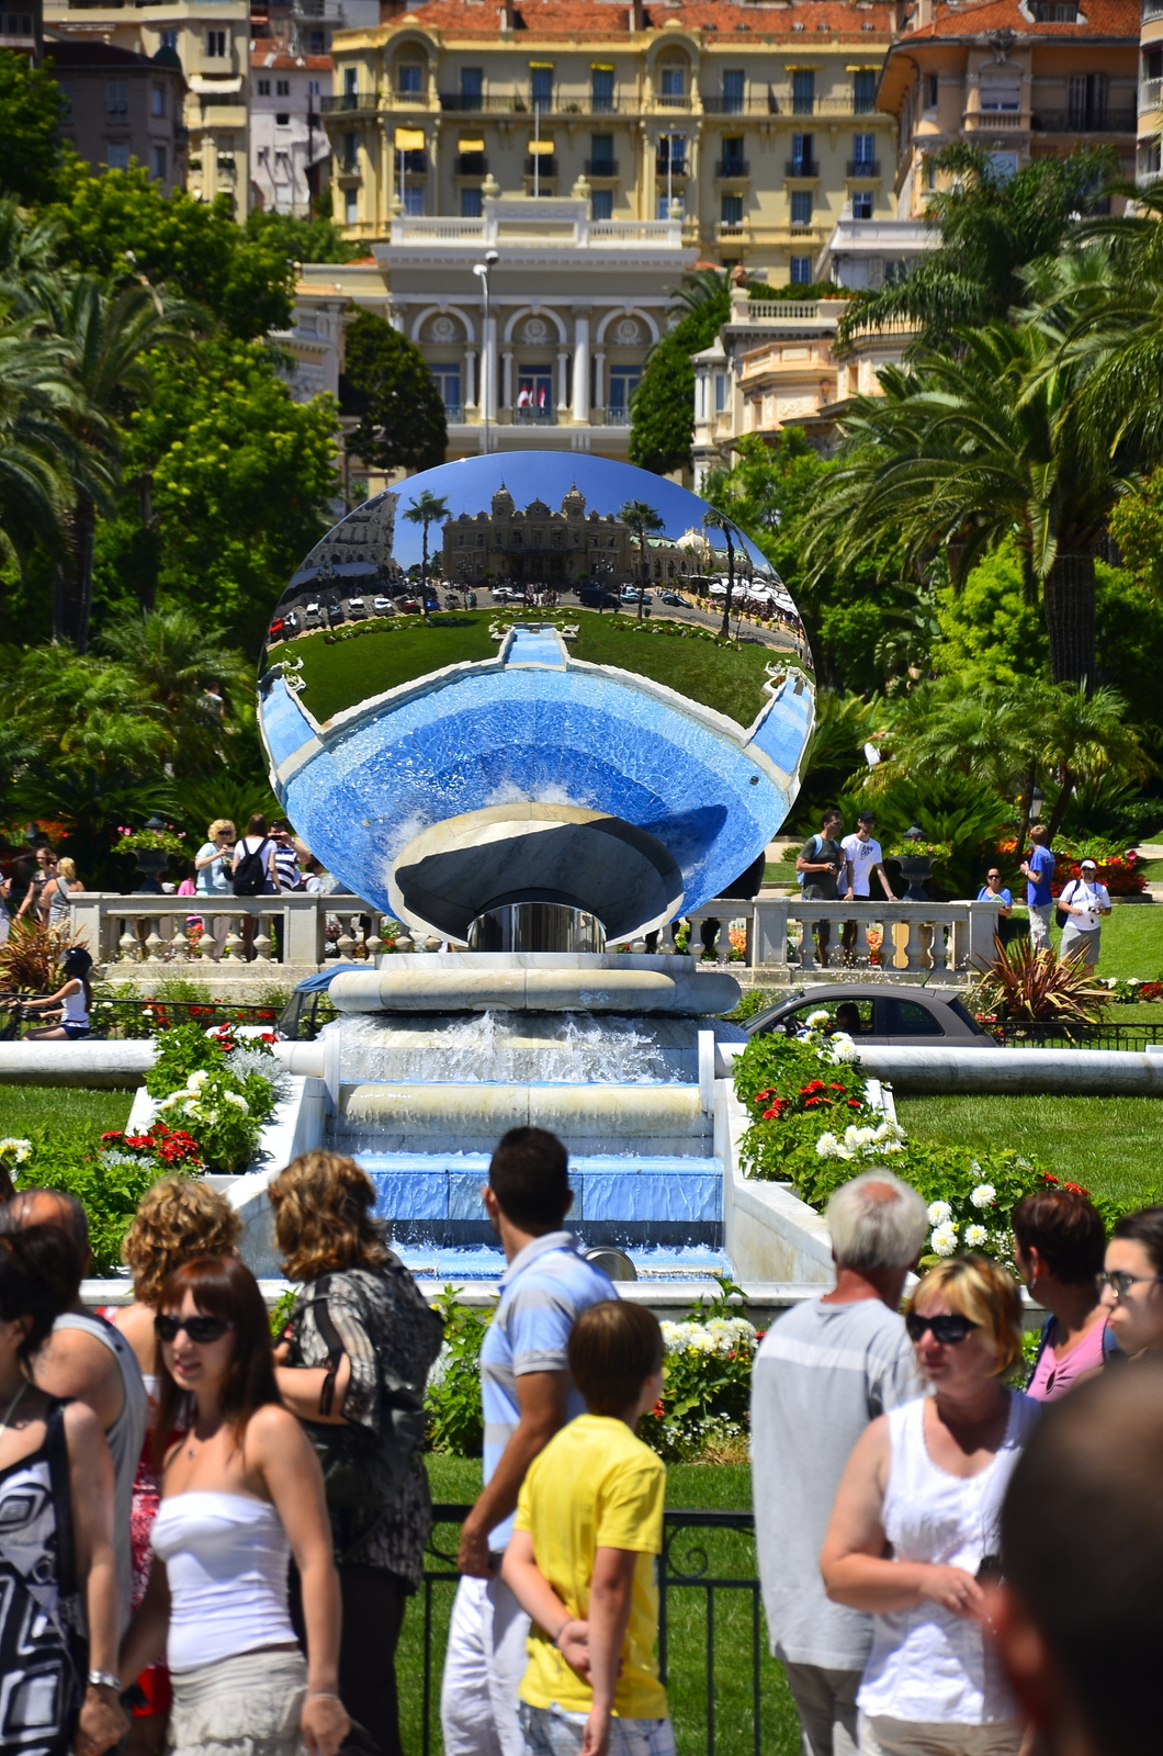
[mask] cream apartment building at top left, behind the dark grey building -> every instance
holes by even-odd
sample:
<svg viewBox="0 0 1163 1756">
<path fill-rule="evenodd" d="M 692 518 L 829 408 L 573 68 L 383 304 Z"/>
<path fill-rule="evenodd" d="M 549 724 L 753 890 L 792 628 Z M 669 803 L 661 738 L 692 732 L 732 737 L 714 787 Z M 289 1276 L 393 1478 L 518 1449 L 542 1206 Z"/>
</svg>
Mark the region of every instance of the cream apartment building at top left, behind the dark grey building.
<svg viewBox="0 0 1163 1756">
<path fill-rule="evenodd" d="M 249 4 L 248 0 L 44 0 L 44 23 L 61 35 L 111 42 L 153 58 L 174 49 L 186 76 L 179 146 L 186 188 L 213 200 L 225 191 L 237 220 L 249 207 Z M 153 167 L 148 167 L 153 169 Z"/>
</svg>

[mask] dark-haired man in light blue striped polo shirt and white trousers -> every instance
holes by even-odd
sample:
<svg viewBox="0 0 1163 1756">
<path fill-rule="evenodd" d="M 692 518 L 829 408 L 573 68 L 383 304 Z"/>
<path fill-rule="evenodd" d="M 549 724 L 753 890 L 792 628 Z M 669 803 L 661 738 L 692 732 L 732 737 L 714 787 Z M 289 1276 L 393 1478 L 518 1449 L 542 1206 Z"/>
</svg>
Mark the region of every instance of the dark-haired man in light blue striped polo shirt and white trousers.
<svg viewBox="0 0 1163 1756">
<path fill-rule="evenodd" d="M 529 1617 L 501 1580 L 525 1470 L 559 1428 L 585 1414 L 567 1343 L 587 1305 L 617 1298 L 578 1240 L 566 1148 L 539 1127 L 513 1127 L 488 1166 L 485 1208 L 504 1247 L 501 1301 L 481 1347 L 485 1487 L 464 1521 L 441 1689 L 444 1756 L 525 1756 L 516 1689 Z"/>
</svg>

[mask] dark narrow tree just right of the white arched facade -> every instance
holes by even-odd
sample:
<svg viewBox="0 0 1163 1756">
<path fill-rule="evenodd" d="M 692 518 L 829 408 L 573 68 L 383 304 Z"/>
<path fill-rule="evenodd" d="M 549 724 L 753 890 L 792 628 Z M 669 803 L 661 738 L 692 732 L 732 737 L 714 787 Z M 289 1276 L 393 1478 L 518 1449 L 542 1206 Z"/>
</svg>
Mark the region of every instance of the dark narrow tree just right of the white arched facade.
<svg viewBox="0 0 1163 1756">
<path fill-rule="evenodd" d="M 631 464 L 668 476 L 690 469 L 694 443 L 694 365 L 690 356 L 710 348 L 731 316 L 726 277 L 703 270 L 678 288 L 673 313 L 678 323 L 650 351 L 631 400 Z M 683 314 L 685 313 L 685 314 Z"/>
</svg>

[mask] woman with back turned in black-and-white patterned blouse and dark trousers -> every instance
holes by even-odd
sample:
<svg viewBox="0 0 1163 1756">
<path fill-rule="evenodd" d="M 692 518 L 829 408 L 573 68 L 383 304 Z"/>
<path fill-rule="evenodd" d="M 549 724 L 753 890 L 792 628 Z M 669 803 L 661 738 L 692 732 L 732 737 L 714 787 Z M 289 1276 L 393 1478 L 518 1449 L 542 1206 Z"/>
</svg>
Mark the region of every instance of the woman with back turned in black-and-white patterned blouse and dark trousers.
<svg viewBox="0 0 1163 1756">
<path fill-rule="evenodd" d="M 420 1442 L 443 1324 L 385 1247 L 376 1189 L 355 1159 L 307 1152 L 267 1194 L 285 1273 L 306 1282 L 278 1382 L 323 1461 L 343 1594 L 339 1693 L 381 1756 L 401 1756 L 395 1645 L 432 1528 Z"/>
</svg>

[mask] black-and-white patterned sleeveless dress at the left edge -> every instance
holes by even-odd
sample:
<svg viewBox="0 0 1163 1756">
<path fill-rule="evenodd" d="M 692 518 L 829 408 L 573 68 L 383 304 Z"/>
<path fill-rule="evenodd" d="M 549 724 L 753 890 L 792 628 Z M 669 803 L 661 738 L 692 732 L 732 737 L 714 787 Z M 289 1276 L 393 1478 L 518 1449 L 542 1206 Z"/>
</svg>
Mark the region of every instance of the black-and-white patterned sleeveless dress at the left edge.
<svg viewBox="0 0 1163 1756">
<path fill-rule="evenodd" d="M 81 1710 L 65 1405 L 44 1442 L 0 1470 L 0 1756 L 65 1756 Z"/>
</svg>

